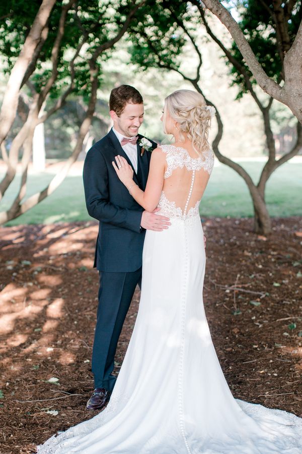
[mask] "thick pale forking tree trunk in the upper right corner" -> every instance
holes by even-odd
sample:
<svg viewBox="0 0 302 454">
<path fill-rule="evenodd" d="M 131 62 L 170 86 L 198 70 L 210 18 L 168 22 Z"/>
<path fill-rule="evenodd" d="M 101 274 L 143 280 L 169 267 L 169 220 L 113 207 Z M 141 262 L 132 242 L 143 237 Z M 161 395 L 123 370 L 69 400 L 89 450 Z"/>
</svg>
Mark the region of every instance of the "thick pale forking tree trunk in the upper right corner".
<svg viewBox="0 0 302 454">
<path fill-rule="evenodd" d="M 302 124 L 302 22 L 301 22 L 301 2 L 295 0 L 261 0 L 257 2 L 261 4 L 263 10 L 266 10 L 272 19 L 272 25 L 275 30 L 278 53 L 282 63 L 282 80 L 281 85 L 266 74 L 263 66 L 259 63 L 257 55 L 250 46 L 247 34 L 233 18 L 231 12 L 226 9 L 218 0 L 203 0 L 198 3 L 199 6 L 205 5 L 221 23 L 229 30 L 234 41 L 236 42 L 243 58 L 255 77 L 260 87 L 274 99 L 287 105 L 293 115 Z M 229 2 L 231 4 L 231 2 Z M 239 0 L 237 5 L 249 7 L 250 4 L 256 2 L 248 2 Z M 291 36 L 289 32 L 289 23 L 291 18 L 296 16 L 299 18 L 299 26 L 295 36 Z"/>
</svg>

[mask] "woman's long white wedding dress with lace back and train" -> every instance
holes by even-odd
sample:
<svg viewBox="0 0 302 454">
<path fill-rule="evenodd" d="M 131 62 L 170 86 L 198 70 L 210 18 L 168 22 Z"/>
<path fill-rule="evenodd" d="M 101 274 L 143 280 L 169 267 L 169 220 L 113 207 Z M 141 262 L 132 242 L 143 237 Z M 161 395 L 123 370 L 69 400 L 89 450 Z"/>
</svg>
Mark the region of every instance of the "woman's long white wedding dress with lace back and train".
<svg viewBox="0 0 302 454">
<path fill-rule="evenodd" d="M 163 145 L 159 202 L 172 225 L 147 231 L 133 334 L 107 408 L 39 454 L 301 454 L 302 419 L 233 398 L 206 321 L 198 206 L 212 151 Z"/>
</svg>

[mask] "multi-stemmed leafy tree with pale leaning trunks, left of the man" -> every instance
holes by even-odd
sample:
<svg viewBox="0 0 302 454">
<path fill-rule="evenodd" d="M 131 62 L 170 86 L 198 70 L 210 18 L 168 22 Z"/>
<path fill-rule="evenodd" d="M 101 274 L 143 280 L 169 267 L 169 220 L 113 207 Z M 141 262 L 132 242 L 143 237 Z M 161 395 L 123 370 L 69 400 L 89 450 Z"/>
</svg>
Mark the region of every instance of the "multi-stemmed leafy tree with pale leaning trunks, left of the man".
<svg viewBox="0 0 302 454">
<path fill-rule="evenodd" d="M 51 194 L 65 178 L 68 169 L 81 152 L 92 122 L 97 90 L 101 82 L 102 61 L 106 59 L 108 50 L 124 35 L 133 16 L 143 3 L 143 1 L 137 4 L 129 2 L 122 6 L 115 1 L 103 2 L 100 5 L 98 0 L 93 2 L 79 0 L 77 3 L 75 0 L 69 0 L 68 3 L 56 3 L 52 14 L 48 16 L 48 27 L 51 33 L 45 34 L 43 39 L 40 37 L 43 45 L 39 47 L 39 51 L 37 51 L 37 47 L 32 49 L 27 61 L 27 70 L 23 76 L 31 95 L 28 115 L 15 136 L 9 153 L 2 146 L 4 160 L 7 163 L 7 173 L 0 183 L 0 197 L 3 197 L 15 178 L 21 147 L 23 154 L 21 185 L 11 207 L 0 212 L 0 223 L 14 219 L 39 203 Z M 39 11 L 36 13 L 30 9 L 28 16 L 22 20 L 17 15 L 18 24 L 21 22 L 20 33 L 16 34 L 16 23 L 12 23 L 11 20 L 8 20 L 6 26 L 2 28 L 3 35 L 8 36 L 6 28 L 11 26 L 10 38 L 13 36 L 15 39 L 17 53 L 19 47 L 20 54 L 23 51 L 20 34 L 21 36 L 22 33 L 26 35 L 29 31 L 29 36 L 31 33 L 32 28 L 27 24 L 31 23 L 33 14 L 36 14 L 33 21 L 35 23 Z M 11 16 L 11 14 L 7 12 L 7 16 Z M 85 47 L 86 50 L 84 50 Z M 13 74 L 19 55 L 12 54 L 11 46 L 7 46 L 6 49 L 7 61 L 9 66 L 12 66 L 11 74 Z M 26 194 L 34 130 L 38 124 L 48 119 L 64 104 L 71 92 L 81 93 L 87 102 L 87 110 L 80 126 L 77 143 L 71 156 L 50 184 L 23 201 Z M 5 109 L 3 111 L 6 112 Z M 5 134 L 3 136 L 5 137 Z"/>
</svg>

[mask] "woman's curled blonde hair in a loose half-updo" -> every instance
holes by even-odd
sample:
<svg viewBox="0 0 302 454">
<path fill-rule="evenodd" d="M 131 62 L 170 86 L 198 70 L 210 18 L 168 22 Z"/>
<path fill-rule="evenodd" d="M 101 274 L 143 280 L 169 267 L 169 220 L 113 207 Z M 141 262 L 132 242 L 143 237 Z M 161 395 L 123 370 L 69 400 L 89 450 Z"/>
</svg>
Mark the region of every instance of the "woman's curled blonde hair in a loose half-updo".
<svg viewBox="0 0 302 454">
<path fill-rule="evenodd" d="M 163 117 L 166 134 L 167 111 L 172 120 L 179 124 L 180 140 L 185 139 L 185 133 L 199 155 L 210 148 L 208 132 L 213 113 L 202 94 L 192 90 L 177 90 L 166 97 Z"/>
</svg>

